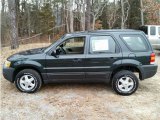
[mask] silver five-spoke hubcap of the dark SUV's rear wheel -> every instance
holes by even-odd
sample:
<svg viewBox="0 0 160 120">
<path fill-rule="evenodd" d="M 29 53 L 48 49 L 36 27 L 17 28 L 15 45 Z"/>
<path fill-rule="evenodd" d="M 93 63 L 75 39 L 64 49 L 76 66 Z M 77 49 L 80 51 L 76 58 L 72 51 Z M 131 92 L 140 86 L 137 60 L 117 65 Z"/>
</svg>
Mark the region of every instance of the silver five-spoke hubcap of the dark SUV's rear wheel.
<svg viewBox="0 0 160 120">
<path fill-rule="evenodd" d="M 129 92 L 130 90 L 132 90 L 133 87 L 134 87 L 134 81 L 129 76 L 121 77 L 118 80 L 118 88 L 122 92 Z"/>
</svg>

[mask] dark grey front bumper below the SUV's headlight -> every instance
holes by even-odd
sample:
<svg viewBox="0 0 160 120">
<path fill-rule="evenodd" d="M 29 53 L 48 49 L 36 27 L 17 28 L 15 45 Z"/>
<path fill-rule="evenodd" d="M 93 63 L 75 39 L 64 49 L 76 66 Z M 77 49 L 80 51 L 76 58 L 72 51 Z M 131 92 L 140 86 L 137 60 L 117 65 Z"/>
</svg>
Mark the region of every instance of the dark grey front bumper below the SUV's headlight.
<svg viewBox="0 0 160 120">
<path fill-rule="evenodd" d="M 10 82 L 14 82 L 13 80 L 14 71 L 15 71 L 14 68 L 6 68 L 3 66 L 3 77 Z"/>
</svg>

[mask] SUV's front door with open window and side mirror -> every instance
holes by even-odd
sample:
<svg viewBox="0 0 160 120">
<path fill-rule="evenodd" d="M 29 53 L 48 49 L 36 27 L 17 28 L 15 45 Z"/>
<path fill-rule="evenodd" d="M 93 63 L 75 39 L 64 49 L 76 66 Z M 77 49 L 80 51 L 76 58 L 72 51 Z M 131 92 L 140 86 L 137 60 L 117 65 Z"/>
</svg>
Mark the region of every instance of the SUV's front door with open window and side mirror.
<svg viewBox="0 0 160 120">
<path fill-rule="evenodd" d="M 72 37 L 55 47 L 56 56 L 46 56 L 46 72 L 50 81 L 75 81 L 85 77 L 85 37 Z"/>
</svg>

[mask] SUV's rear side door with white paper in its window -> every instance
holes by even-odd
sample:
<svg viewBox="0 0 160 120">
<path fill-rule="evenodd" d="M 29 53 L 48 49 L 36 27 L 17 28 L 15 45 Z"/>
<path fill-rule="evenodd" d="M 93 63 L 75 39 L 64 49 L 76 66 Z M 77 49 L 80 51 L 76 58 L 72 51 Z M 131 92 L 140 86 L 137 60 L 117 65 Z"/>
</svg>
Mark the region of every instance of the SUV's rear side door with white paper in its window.
<svg viewBox="0 0 160 120">
<path fill-rule="evenodd" d="M 88 42 L 86 79 L 109 81 L 113 68 L 121 64 L 122 53 L 117 41 L 110 35 L 91 35 Z"/>
</svg>

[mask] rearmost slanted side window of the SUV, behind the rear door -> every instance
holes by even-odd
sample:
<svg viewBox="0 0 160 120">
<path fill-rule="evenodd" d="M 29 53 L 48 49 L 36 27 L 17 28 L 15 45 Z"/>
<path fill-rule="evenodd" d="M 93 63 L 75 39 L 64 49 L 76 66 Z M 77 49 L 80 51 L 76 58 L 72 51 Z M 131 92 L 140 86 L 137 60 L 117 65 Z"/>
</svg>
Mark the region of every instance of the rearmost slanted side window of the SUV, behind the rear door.
<svg viewBox="0 0 160 120">
<path fill-rule="evenodd" d="M 131 51 L 147 51 L 146 40 L 140 35 L 123 35 L 122 39 Z"/>
</svg>

